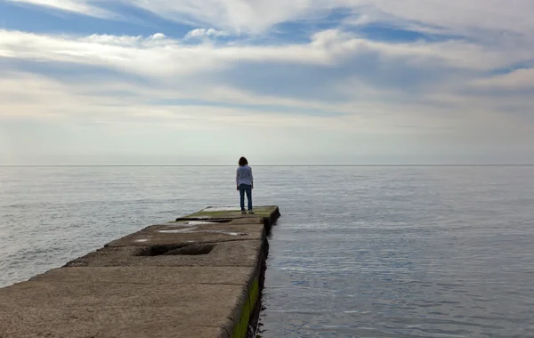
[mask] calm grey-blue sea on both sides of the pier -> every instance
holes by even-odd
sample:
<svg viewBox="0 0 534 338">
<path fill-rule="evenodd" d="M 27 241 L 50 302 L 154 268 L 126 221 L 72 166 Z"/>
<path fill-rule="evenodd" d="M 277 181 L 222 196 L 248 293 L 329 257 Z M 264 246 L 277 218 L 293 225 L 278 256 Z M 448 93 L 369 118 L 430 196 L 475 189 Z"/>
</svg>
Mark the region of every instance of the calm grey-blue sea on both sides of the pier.
<svg viewBox="0 0 534 338">
<path fill-rule="evenodd" d="M 0 167 L 0 286 L 206 205 L 233 167 Z M 263 337 L 534 337 L 534 167 L 256 166 Z"/>
</svg>

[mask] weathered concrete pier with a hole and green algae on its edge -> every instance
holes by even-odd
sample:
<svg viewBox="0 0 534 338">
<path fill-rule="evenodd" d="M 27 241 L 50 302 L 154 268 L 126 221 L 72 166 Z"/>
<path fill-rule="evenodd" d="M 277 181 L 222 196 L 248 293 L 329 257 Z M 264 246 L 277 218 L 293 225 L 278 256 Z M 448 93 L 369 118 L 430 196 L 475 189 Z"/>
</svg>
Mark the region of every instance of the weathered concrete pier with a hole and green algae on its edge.
<svg viewBox="0 0 534 338">
<path fill-rule="evenodd" d="M 278 217 L 206 208 L 0 289 L 0 338 L 246 337 Z"/>
</svg>

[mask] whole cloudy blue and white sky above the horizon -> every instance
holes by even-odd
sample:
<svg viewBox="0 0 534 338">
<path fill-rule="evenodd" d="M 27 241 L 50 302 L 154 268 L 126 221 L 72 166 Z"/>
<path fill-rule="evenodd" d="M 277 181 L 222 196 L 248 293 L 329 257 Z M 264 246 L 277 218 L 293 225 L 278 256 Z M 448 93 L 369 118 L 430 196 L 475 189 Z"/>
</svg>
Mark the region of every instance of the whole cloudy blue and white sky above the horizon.
<svg viewBox="0 0 534 338">
<path fill-rule="evenodd" d="M 532 0 L 0 0 L 0 165 L 534 164 Z"/>
</svg>

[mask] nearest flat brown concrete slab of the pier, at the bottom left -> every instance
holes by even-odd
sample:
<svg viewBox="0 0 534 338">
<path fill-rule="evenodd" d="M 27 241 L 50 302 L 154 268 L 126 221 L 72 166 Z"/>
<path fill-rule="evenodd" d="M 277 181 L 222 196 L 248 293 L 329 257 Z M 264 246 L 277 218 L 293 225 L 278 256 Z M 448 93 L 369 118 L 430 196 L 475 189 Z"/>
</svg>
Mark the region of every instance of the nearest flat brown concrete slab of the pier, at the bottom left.
<svg viewBox="0 0 534 338">
<path fill-rule="evenodd" d="M 102 327 L 223 327 L 247 302 L 244 286 L 26 282 L 0 290 L 0 327 L 48 334 L 56 326 L 76 325 L 98 335 Z M 53 315 L 53 316 L 52 316 Z M 120 323 L 120 324 L 119 324 Z M 169 334 L 173 332 L 167 331 Z M 21 335 L 20 335 L 21 336 Z"/>
</svg>

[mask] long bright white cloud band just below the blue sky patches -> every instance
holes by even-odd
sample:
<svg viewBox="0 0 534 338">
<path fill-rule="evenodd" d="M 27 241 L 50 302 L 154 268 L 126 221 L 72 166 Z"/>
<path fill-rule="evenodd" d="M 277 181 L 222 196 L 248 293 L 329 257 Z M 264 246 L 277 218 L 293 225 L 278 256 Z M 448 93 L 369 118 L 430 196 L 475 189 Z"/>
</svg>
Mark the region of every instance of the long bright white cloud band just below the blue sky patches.
<svg viewBox="0 0 534 338">
<path fill-rule="evenodd" d="M 208 34 L 208 31 L 204 32 Z M 211 35 L 217 33 L 209 33 Z M 406 60 L 417 67 L 449 67 L 487 70 L 523 60 L 507 51 L 493 51 L 477 44 L 394 44 L 374 42 L 326 30 L 307 44 L 282 46 L 182 44 L 155 34 L 142 36 L 92 35 L 51 36 L 0 30 L 1 55 L 22 60 L 74 62 L 114 68 L 144 76 L 175 76 L 230 67 L 238 61 L 288 62 L 336 65 L 358 55 L 376 55 L 383 60 Z"/>
</svg>

